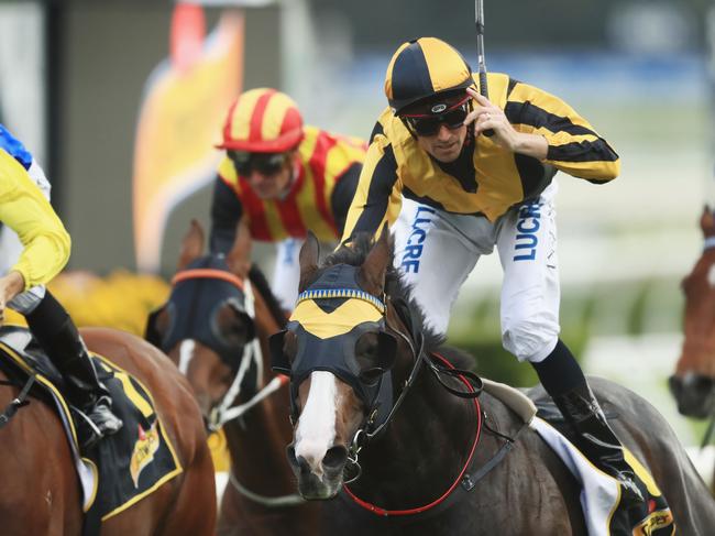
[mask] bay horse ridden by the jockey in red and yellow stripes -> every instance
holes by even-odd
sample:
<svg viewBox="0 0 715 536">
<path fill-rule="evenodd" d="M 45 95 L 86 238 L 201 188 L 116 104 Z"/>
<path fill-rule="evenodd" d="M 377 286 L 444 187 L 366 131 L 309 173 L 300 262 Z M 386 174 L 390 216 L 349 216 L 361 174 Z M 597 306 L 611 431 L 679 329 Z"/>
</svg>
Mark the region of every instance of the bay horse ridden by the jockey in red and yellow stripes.
<svg viewBox="0 0 715 536">
<path fill-rule="evenodd" d="M 183 239 L 168 302 L 147 339 L 186 375 L 211 429 L 223 427 L 231 455 L 219 535 L 314 535 L 319 505 L 295 491 L 285 459 L 290 441 L 286 378 L 272 373 L 267 338 L 285 315 L 251 267 L 250 234 L 239 226 L 226 258 L 204 254 L 197 221 Z"/>
</svg>

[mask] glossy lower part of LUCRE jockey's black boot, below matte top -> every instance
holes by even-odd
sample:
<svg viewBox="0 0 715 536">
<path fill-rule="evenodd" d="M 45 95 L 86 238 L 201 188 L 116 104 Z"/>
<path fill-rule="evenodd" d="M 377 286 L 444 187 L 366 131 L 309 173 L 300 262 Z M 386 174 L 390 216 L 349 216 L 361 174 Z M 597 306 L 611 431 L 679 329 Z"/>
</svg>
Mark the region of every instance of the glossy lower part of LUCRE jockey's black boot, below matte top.
<svg viewBox="0 0 715 536">
<path fill-rule="evenodd" d="M 583 383 L 557 395 L 553 402 L 572 428 L 574 445 L 592 463 L 620 483 L 620 504 L 626 508 L 641 505 L 645 499 L 636 483 L 638 478 L 626 462 L 624 447 L 588 385 Z"/>
</svg>

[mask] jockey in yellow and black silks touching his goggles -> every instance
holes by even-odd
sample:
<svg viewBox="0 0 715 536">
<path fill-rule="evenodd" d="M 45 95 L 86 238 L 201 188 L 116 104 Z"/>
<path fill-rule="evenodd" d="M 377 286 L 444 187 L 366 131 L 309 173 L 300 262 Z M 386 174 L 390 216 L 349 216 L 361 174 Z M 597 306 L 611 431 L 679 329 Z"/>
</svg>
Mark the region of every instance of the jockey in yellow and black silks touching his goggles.
<svg viewBox="0 0 715 536">
<path fill-rule="evenodd" d="M 396 267 L 437 332 L 447 331 L 479 258 L 498 250 L 505 349 L 532 364 L 572 441 L 620 484 L 624 511 L 641 507 L 646 485 L 559 338 L 554 175 L 607 183 L 619 157 L 560 98 L 505 74 L 487 79 L 488 99 L 461 54 L 435 37 L 395 52 L 389 107 L 373 130 L 342 241 L 389 225 Z"/>
</svg>

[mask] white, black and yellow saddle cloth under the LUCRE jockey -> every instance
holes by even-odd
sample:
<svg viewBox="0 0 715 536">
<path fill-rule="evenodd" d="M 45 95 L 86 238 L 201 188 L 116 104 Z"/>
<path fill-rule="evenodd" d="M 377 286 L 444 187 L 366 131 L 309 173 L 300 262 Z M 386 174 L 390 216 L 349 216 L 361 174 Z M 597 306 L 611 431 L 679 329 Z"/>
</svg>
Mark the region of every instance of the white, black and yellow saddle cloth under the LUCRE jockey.
<svg viewBox="0 0 715 536">
<path fill-rule="evenodd" d="M 581 507 L 590 536 L 670 536 L 675 534 L 673 516 L 668 503 L 650 472 L 628 450 L 624 449 L 628 464 L 645 484 L 642 507 L 618 508 L 620 485 L 610 475 L 598 470 L 568 439 L 565 422 L 550 398 L 539 397 L 536 403 L 525 393 L 503 383 L 484 380 L 484 391 L 501 400 L 535 430 L 561 458 L 581 483 Z M 618 418 L 615 408 L 604 408 L 606 419 Z"/>
</svg>

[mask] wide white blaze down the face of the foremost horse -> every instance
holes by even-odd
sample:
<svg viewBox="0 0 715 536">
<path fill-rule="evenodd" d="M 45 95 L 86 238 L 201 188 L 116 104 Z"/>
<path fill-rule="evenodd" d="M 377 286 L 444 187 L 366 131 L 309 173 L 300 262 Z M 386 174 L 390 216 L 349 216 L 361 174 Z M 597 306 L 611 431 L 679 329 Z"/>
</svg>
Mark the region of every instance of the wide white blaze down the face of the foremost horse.
<svg viewBox="0 0 715 536">
<path fill-rule="evenodd" d="M 310 374 L 310 392 L 296 428 L 296 457 L 302 457 L 317 477 L 322 459 L 336 439 L 338 380 L 328 371 Z"/>
</svg>

